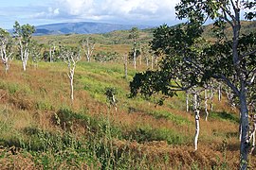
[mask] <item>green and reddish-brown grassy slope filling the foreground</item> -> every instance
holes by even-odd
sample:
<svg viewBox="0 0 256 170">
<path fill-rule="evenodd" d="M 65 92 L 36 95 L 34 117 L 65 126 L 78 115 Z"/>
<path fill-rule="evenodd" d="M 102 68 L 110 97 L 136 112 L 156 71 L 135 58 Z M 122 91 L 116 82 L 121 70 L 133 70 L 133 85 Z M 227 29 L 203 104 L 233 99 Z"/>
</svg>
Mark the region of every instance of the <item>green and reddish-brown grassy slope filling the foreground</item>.
<svg viewBox="0 0 256 170">
<path fill-rule="evenodd" d="M 8 74 L 0 72 L 0 169 L 238 167 L 239 115 L 225 99 L 214 98 L 208 122 L 202 111 L 194 152 L 194 118 L 185 111 L 184 93 L 155 108 L 127 97 L 132 65 L 126 80 L 122 64 L 81 61 L 71 103 L 66 72 L 62 62 L 40 62 L 37 69 L 28 64 L 23 72 L 19 61 Z M 117 89 L 118 111 L 106 101 L 108 87 Z M 256 167 L 254 154 L 250 165 Z"/>
</svg>

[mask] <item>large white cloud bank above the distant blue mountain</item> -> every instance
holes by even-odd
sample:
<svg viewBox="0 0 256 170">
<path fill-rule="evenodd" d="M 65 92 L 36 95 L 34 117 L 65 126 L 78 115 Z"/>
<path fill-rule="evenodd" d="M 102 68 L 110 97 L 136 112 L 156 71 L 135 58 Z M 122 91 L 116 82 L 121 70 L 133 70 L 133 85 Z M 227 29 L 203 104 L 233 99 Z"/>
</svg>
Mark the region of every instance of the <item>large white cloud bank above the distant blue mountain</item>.
<svg viewBox="0 0 256 170">
<path fill-rule="evenodd" d="M 179 0 L 52 0 L 36 18 L 159 25 L 175 20 Z"/>
</svg>

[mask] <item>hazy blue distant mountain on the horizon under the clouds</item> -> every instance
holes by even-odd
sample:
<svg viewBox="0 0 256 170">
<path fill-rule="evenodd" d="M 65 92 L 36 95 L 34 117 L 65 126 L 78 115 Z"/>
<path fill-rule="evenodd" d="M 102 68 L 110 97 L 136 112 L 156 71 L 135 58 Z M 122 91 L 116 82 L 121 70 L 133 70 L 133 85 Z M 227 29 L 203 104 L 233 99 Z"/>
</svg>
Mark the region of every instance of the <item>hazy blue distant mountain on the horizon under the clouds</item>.
<svg viewBox="0 0 256 170">
<path fill-rule="evenodd" d="M 117 25 L 107 23 L 60 23 L 44 26 L 36 26 L 34 35 L 53 35 L 53 34 L 99 34 L 108 33 L 115 30 L 128 30 L 136 25 Z M 154 26 L 137 26 L 139 29 L 151 28 Z"/>
</svg>

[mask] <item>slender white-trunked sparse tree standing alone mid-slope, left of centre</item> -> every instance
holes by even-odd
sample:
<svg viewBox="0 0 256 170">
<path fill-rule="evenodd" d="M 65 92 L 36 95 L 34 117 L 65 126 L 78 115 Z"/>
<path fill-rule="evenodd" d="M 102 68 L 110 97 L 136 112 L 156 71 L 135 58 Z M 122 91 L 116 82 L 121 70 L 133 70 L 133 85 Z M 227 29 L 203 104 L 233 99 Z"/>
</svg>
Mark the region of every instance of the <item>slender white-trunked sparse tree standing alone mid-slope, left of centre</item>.
<svg viewBox="0 0 256 170">
<path fill-rule="evenodd" d="M 68 73 L 67 76 L 70 82 L 70 98 L 74 101 L 74 75 L 77 62 L 81 59 L 80 51 L 77 48 L 61 48 L 61 58 L 67 64 Z"/>
</svg>

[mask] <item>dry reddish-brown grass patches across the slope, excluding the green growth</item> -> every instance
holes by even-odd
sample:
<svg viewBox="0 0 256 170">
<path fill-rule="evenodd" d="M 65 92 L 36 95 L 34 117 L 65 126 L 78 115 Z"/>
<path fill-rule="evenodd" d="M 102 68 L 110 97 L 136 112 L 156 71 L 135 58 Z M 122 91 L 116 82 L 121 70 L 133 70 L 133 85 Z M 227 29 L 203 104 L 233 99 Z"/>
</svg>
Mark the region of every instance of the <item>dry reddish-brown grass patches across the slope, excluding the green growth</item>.
<svg viewBox="0 0 256 170">
<path fill-rule="evenodd" d="M 100 76 L 92 73 L 84 73 L 79 71 L 82 76 L 92 76 L 93 78 L 101 79 L 102 81 L 108 81 L 104 76 Z M 90 75 L 91 74 L 91 75 Z M 0 72 L 0 77 L 5 82 L 16 83 L 19 85 L 24 85 L 27 89 L 26 92 L 17 91 L 14 94 L 9 93 L 7 90 L 0 89 L 0 107 L 3 109 L 4 106 L 9 107 L 9 120 L 16 130 L 22 130 L 25 127 L 41 127 L 47 130 L 56 130 L 56 127 L 51 119 L 54 113 L 56 113 L 60 108 L 70 108 L 74 111 L 87 110 L 86 113 L 90 116 L 100 117 L 100 116 L 110 116 L 110 119 L 114 121 L 116 126 L 126 128 L 127 131 L 137 127 L 142 127 L 148 125 L 153 128 L 165 127 L 168 129 L 173 129 L 180 134 L 185 136 L 193 136 L 194 127 L 187 125 L 176 125 L 173 121 L 164 118 L 156 119 L 153 115 L 147 114 L 143 110 L 167 110 L 187 118 L 193 123 L 192 113 L 187 113 L 184 110 L 174 110 L 166 106 L 160 106 L 155 108 L 153 104 L 147 105 L 144 102 L 142 105 L 136 106 L 139 110 L 129 113 L 125 108 L 110 111 L 105 103 L 96 101 L 91 97 L 91 95 L 84 91 L 75 91 L 75 101 L 73 104 L 69 100 L 69 85 L 65 74 L 65 67 L 60 64 L 44 64 L 39 66 L 37 70 L 34 70 L 32 66 L 27 68 L 27 72 L 21 71 L 21 63 L 13 62 L 10 66 L 10 71 L 8 75 L 4 72 Z M 119 83 L 119 80 L 112 79 L 114 83 Z M 124 80 L 121 80 L 124 83 Z M 82 86 L 78 84 L 78 86 Z M 128 90 L 128 85 L 124 86 L 125 90 Z M 168 102 L 176 102 L 176 99 L 170 99 Z M 38 108 L 38 104 L 45 103 L 42 107 L 46 109 Z M 119 106 L 129 105 L 133 101 L 124 101 L 121 99 Z M 125 103 L 126 102 L 126 103 Z M 222 102 L 216 101 L 214 99 L 214 110 L 222 111 L 226 110 L 237 114 L 237 111 L 231 110 L 227 105 L 227 101 L 224 99 Z M 0 109 L 1 109 L 0 108 Z M 1 121 L 3 119 L 1 118 Z M 74 125 L 77 132 L 84 133 L 82 125 Z M 193 151 L 192 141 L 185 145 L 170 145 L 166 142 L 151 142 L 151 143 L 141 143 L 129 142 L 125 140 L 117 140 L 113 143 L 119 148 L 128 147 L 135 152 L 140 152 L 139 154 L 146 154 L 147 161 L 150 163 L 154 161 L 155 158 L 159 158 L 159 167 L 162 169 L 170 169 L 170 164 L 172 167 L 176 167 L 180 163 L 182 164 L 182 169 L 190 169 L 192 162 L 199 162 L 199 166 L 210 167 L 214 165 L 219 165 L 223 160 L 223 153 L 221 150 L 221 145 L 223 140 L 226 139 L 228 142 L 227 146 L 227 160 L 229 161 L 230 169 L 236 169 L 238 167 L 239 160 L 239 140 L 235 135 L 238 131 L 238 124 L 231 122 L 224 122 L 221 120 L 210 120 L 209 122 L 204 121 L 203 117 L 200 121 L 201 131 L 199 136 L 199 149 L 198 151 Z M 0 153 L 6 152 L 1 150 Z M 0 159 L 1 169 L 36 169 L 34 167 L 31 156 L 23 157 L 20 154 L 11 155 L 8 152 L 9 159 Z M 170 159 L 164 161 L 164 156 L 168 156 Z M 217 158 L 220 158 L 218 160 Z M 13 161 L 10 161 L 13 160 Z M 256 168 L 255 156 L 251 157 L 251 165 Z"/>
</svg>

